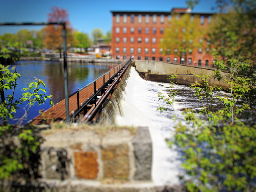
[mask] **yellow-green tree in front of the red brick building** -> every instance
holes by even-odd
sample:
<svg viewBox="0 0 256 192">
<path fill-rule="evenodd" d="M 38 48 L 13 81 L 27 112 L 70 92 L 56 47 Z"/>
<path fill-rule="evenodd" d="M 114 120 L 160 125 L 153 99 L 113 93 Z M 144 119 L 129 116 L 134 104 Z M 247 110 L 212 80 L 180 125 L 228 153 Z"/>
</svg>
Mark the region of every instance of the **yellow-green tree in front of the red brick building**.
<svg viewBox="0 0 256 192">
<path fill-rule="evenodd" d="M 199 38 L 205 36 L 205 30 L 198 28 L 201 26 L 199 15 L 191 17 L 191 14 L 188 13 L 182 16 L 178 13 L 172 13 L 172 18 L 165 29 L 159 47 L 164 49 L 164 55 L 174 52 L 180 56 L 180 60 L 184 55 L 186 64 L 188 54 L 201 46 Z"/>
</svg>

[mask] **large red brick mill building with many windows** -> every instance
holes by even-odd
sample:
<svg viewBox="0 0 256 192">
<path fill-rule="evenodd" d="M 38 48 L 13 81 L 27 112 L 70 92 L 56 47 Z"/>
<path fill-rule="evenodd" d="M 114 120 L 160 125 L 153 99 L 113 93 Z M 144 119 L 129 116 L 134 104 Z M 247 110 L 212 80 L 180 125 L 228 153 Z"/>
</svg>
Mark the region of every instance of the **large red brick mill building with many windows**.
<svg viewBox="0 0 256 192">
<path fill-rule="evenodd" d="M 194 13 L 187 8 L 173 8 L 171 12 L 127 12 L 111 11 L 112 17 L 112 57 L 115 59 L 163 60 L 173 63 L 185 63 L 185 57 L 163 54 L 159 47 L 160 39 L 170 20 L 171 13 L 200 15 L 201 26 L 209 28 L 212 13 Z M 200 39 L 204 41 L 203 38 Z M 205 44 L 207 42 L 204 42 Z M 213 58 L 205 46 L 193 50 L 187 55 L 187 64 L 212 66 Z"/>
</svg>

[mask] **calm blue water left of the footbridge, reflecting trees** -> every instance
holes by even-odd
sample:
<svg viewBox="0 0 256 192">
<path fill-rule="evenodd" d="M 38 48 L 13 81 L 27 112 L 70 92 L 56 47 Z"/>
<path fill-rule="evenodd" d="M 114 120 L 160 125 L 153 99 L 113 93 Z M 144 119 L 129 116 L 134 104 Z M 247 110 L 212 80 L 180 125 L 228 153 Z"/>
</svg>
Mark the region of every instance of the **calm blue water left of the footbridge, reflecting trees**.
<svg viewBox="0 0 256 192">
<path fill-rule="evenodd" d="M 116 63 L 68 63 L 68 94 L 77 91 L 77 88 L 84 87 L 92 82 L 94 78 L 101 76 L 116 66 Z M 17 80 L 17 89 L 15 89 L 15 99 L 19 100 L 24 93 L 22 88 L 28 87 L 30 82 L 34 81 L 34 77 L 44 81 L 46 85 L 46 94 L 53 95 L 52 101 L 54 104 L 65 98 L 64 94 L 64 72 L 63 63 L 51 61 L 18 61 L 15 63 L 16 70 L 20 73 L 21 78 Z M 42 86 L 42 87 L 41 87 Z M 40 85 L 44 88 L 43 85 Z M 12 91 L 5 91 L 5 95 L 12 94 Z M 17 109 L 15 118 L 20 118 L 24 115 L 25 105 L 20 105 Z M 39 110 L 50 108 L 49 101 L 40 106 L 32 106 L 28 111 L 27 118 L 22 124 L 26 124 L 28 120 L 33 119 L 39 114 Z M 16 120 L 11 120 L 9 123 L 15 123 Z"/>
</svg>

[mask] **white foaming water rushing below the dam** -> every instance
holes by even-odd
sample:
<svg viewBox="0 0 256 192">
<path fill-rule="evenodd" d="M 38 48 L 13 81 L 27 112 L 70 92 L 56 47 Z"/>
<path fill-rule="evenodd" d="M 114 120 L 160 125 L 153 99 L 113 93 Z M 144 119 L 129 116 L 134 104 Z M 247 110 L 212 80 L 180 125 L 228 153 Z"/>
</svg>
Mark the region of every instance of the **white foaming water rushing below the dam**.
<svg viewBox="0 0 256 192">
<path fill-rule="evenodd" d="M 126 80 L 124 100 L 121 101 L 122 116 L 116 116 L 117 125 L 128 126 L 148 126 L 151 140 L 153 143 L 152 158 L 152 180 L 156 185 L 179 185 L 178 175 L 183 172 L 180 167 L 181 154 L 177 148 L 169 148 L 165 139 L 170 139 L 175 121 L 171 119 L 174 115 L 172 110 L 168 110 L 160 114 L 156 111 L 159 105 L 163 105 L 163 101 L 158 101 L 157 93 L 170 90 L 170 84 L 157 83 L 143 80 L 136 72 L 135 68 L 131 68 L 130 77 Z M 187 86 L 175 85 L 176 89 L 188 90 Z M 177 96 L 174 107 L 177 116 L 181 116 L 179 109 L 186 108 L 189 101 L 186 96 Z"/>
</svg>

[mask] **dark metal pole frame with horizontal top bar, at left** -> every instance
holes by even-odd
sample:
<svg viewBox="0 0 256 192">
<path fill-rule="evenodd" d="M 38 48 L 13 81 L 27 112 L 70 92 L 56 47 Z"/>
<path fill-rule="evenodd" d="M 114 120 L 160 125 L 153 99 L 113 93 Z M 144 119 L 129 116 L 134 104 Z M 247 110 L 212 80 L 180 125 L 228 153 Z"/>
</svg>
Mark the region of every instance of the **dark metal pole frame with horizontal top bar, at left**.
<svg viewBox="0 0 256 192">
<path fill-rule="evenodd" d="M 67 70 L 67 47 L 66 47 L 66 22 L 28 22 L 28 23 L 0 23 L 0 26 L 14 26 L 14 25 L 62 25 L 63 38 L 63 56 L 64 56 L 64 88 L 65 88 L 65 107 L 66 120 L 69 121 L 69 103 L 68 103 L 68 70 Z"/>
</svg>

